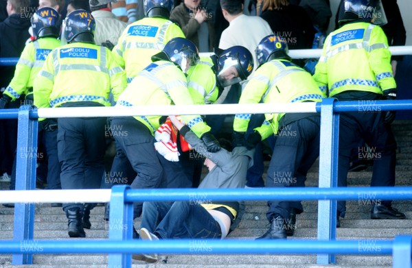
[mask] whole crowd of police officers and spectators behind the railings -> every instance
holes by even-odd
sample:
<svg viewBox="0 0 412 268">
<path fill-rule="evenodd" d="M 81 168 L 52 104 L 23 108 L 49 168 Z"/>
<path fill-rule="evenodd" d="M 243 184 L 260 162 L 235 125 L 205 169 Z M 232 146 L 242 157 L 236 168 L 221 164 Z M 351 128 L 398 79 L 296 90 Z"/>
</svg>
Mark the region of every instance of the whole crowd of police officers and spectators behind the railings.
<svg viewBox="0 0 412 268">
<path fill-rule="evenodd" d="M 16 66 L 0 66 L 0 109 L 396 99 L 402 58 L 391 58 L 389 45 L 402 45 L 405 36 L 396 1 L 344 0 L 330 34 L 327 0 L 34 2 L 8 0 L 8 16 L 0 12 L 0 58 L 19 58 Z M 323 47 L 314 69 L 288 55 L 312 47 Z M 305 186 L 319 156 L 319 114 L 236 114 L 229 130 L 226 117 L 39 119 L 37 180 L 49 189 Z M 341 114 L 339 186 L 347 186 L 354 150 L 367 146 L 380 156 L 371 186 L 395 185 L 393 119 L 392 111 Z M 0 123 L 0 171 L 14 190 L 23 157 L 16 152 L 16 120 Z M 203 165 L 209 173 L 201 180 Z M 86 236 L 96 204 L 52 206 L 66 213 L 70 237 Z M 133 237 L 223 239 L 243 210 L 242 201 L 139 203 L 134 217 L 141 226 Z M 258 239 L 292 236 L 303 210 L 300 202 L 269 200 L 270 228 Z M 345 202 L 337 210 L 339 227 Z M 405 215 L 385 200 L 372 206 L 371 219 Z"/>
</svg>

